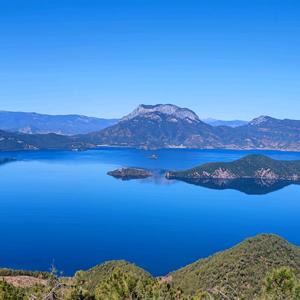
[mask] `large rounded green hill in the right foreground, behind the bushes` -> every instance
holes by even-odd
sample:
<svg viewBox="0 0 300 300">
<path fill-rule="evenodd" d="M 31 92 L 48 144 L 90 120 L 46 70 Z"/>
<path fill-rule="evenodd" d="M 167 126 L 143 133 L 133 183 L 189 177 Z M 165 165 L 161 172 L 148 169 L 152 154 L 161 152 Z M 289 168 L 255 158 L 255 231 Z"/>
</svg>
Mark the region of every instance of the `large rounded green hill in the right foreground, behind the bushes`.
<svg viewBox="0 0 300 300">
<path fill-rule="evenodd" d="M 253 299 L 267 272 L 289 266 L 300 274 L 300 248 L 275 235 L 259 235 L 170 274 L 187 294 L 198 289 Z"/>
</svg>

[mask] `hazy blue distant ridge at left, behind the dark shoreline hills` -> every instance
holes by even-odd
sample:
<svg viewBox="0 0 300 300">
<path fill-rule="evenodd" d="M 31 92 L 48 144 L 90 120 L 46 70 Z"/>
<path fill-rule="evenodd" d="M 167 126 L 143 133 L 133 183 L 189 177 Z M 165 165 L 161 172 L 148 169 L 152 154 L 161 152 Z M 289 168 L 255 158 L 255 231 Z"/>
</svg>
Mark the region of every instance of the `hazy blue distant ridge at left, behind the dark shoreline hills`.
<svg viewBox="0 0 300 300">
<path fill-rule="evenodd" d="M 81 115 L 45 115 L 0 111 L 0 129 L 28 134 L 83 134 L 117 123 L 117 119 L 99 119 Z"/>
</svg>

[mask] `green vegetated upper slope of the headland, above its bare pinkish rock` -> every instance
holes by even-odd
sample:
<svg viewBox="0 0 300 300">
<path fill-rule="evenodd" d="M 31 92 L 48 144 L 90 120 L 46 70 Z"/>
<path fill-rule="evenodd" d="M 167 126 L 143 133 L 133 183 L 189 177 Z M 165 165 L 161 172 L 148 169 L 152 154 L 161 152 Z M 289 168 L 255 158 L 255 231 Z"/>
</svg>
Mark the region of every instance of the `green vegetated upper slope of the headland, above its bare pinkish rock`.
<svg viewBox="0 0 300 300">
<path fill-rule="evenodd" d="M 248 155 L 233 162 L 208 163 L 185 171 L 171 172 L 178 177 L 189 177 L 197 172 L 213 173 L 216 169 L 227 169 L 240 177 L 253 178 L 259 169 L 271 169 L 281 176 L 292 176 L 300 174 L 300 161 L 280 161 L 274 160 L 264 155 Z"/>
</svg>

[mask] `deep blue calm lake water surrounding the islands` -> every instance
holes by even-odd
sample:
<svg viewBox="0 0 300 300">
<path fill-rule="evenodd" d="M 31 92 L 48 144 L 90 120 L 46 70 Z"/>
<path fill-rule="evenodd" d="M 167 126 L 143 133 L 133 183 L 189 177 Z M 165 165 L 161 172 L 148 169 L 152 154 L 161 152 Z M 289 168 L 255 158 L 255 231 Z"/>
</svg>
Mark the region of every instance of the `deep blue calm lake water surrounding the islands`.
<svg viewBox="0 0 300 300">
<path fill-rule="evenodd" d="M 14 152 L 0 166 L 0 267 L 65 274 L 126 259 L 163 275 L 258 233 L 300 245 L 300 186 L 264 195 L 215 190 L 163 177 L 120 181 L 121 166 L 184 169 L 254 151 L 100 149 Z M 300 153 L 263 152 L 276 159 Z"/>
</svg>

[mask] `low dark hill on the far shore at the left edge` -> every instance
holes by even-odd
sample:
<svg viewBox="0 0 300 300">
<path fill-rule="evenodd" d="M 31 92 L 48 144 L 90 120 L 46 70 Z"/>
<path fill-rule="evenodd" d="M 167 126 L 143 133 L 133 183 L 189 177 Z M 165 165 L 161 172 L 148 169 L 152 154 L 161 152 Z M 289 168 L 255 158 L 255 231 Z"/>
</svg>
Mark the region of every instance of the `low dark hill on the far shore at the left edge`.
<svg viewBox="0 0 300 300">
<path fill-rule="evenodd" d="M 81 150 L 88 145 L 75 137 L 49 134 L 25 134 L 0 130 L 0 151 Z"/>
</svg>

